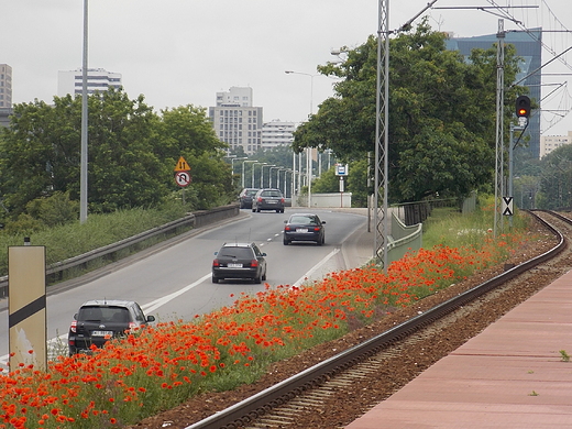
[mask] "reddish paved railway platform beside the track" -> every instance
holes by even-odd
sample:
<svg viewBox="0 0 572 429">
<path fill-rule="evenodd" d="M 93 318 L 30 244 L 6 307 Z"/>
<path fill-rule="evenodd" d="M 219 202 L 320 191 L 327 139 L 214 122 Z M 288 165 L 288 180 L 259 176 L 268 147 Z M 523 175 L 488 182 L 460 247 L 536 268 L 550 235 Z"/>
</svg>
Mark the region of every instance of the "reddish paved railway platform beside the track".
<svg viewBox="0 0 572 429">
<path fill-rule="evenodd" d="M 345 428 L 572 428 L 572 272 Z"/>
</svg>

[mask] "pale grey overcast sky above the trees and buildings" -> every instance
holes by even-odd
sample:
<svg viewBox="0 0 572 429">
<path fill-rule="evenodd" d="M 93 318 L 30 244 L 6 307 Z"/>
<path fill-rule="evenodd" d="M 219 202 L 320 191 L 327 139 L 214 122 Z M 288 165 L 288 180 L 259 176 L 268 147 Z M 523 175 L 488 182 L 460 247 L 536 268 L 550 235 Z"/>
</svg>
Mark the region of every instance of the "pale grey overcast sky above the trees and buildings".
<svg viewBox="0 0 572 429">
<path fill-rule="evenodd" d="M 389 0 L 389 29 L 399 28 L 428 2 Z M 527 28 L 561 30 L 562 25 L 572 29 L 570 2 L 439 0 L 435 8 L 540 6 L 514 13 Z M 58 70 L 81 67 L 84 1 L 0 0 L 0 63 L 12 66 L 13 101 L 51 102 L 57 92 Z M 249 86 L 254 106 L 264 108 L 265 121 L 294 122 L 306 120 L 310 106 L 316 112 L 332 95 L 331 79 L 308 75 L 317 74 L 317 65 L 336 59 L 332 50 L 364 43 L 376 33 L 378 20 L 378 1 L 374 0 L 89 0 L 88 10 L 89 67 L 122 74 L 130 98 L 143 94 L 157 111 L 189 103 L 208 108 L 215 105 L 217 91 Z M 433 9 L 427 13 L 433 29 L 452 31 L 455 36 L 494 34 L 498 28 L 499 16 L 484 11 Z M 505 20 L 505 30 L 518 29 Z M 563 33 L 543 37 L 557 54 L 571 43 Z M 542 55 L 543 63 L 552 58 L 547 51 Z M 564 57 L 572 64 L 572 54 Z M 553 69 L 572 73 L 558 61 Z M 546 80 L 565 82 L 568 78 Z M 554 88 L 547 87 L 543 94 Z M 561 89 L 549 105 L 569 109 L 570 96 Z M 543 114 L 542 129 L 549 118 Z M 568 130 L 572 130 L 570 114 L 547 134 Z"/>
</svg>

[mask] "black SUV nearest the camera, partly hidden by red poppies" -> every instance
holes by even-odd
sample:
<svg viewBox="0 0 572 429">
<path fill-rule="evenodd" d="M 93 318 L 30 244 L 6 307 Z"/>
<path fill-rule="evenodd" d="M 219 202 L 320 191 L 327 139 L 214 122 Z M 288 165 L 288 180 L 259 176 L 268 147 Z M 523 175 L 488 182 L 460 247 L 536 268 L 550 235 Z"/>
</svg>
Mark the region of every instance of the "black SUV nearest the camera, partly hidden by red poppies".
<svg viewBox="0 0 572 429">
<path fill-rule="evenodd" d="M 95 299 L 84 302 L 69 327 L 69 355 L 90 353 L 91 345 L 103 346 L 111 339 L 124 337 L 150 322 L 154 316 L 143 314 L 135 301 Z"/>
</svg>

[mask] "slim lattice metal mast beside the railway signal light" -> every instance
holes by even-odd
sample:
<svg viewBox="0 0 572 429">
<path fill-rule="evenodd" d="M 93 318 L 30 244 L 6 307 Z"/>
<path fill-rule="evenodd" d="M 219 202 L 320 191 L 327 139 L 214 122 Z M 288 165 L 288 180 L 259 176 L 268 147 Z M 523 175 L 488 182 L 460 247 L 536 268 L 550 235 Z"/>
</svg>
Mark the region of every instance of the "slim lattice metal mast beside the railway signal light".
<svg viewBox="0 0 572 429">
<path fill-rule="evenodd" d="M 496 50 L 496 156 L 495 156 L 495 221 L 494 237 L 497 237 L 497 228 L 503 230 L 503 213 L 499 199 L 504 196 L 504 100 L 505 100 L 505 30 L 504 20 L 498 20 L 498 33 L 496 34 L 498 46 Z M 499 223 L 499 227 L 498 227 Z"/>
</svg>

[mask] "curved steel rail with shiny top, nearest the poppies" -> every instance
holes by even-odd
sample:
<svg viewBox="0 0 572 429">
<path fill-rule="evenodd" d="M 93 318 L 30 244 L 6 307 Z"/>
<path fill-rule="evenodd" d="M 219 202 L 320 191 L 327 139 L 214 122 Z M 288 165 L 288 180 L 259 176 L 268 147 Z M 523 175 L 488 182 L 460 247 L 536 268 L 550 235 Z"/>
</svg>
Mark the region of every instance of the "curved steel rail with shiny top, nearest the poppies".
<svg viewBox="0 0 572 429">
<path fill-rule="evenodd" d="M 359 362 L 362 362 L 382 349 L 405 339 L 406 337 L 416 331 L 419 331 L 421 328 L 430 323 L 433 323 L 436 320 L 501 286 L 507 280 L 557 256 L 564 250 L 566 245 L 564 237 L 560 231 L 541 219 L 539 216 L 534 212 L 530 213 L 558 238 L 559 243 L 551 250 L 522 264 L 506 270 L 503 274 L 499 274 L 492 279 L 475 286 L 474 288 L 469 289 L 465 293 L 458 295 L 457 297 L 451 298 L 433 307 L 432 309 L 396 326 L 395 328 L 381 333 L 380 336 L 376 336 L 361 344 L 354 345 L 344 352 L 341 352 L 251 396 L 250 398 L 246 398 L 227 409 L 197 421 L 196 424 L 187 426 L 185 429 L 235 429 L 244 427 L 272 408 L 283 405 L 289 399 L 296 397 L 301 392 L 321 384 L 330 376 L 340 373 Z M 549 213 L 559 217 L 561 220 L 572 223 L 570 219 L 558 216 L 558 213 Z"/>
</svg>

